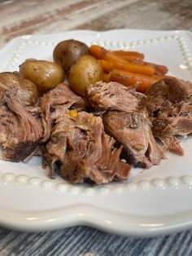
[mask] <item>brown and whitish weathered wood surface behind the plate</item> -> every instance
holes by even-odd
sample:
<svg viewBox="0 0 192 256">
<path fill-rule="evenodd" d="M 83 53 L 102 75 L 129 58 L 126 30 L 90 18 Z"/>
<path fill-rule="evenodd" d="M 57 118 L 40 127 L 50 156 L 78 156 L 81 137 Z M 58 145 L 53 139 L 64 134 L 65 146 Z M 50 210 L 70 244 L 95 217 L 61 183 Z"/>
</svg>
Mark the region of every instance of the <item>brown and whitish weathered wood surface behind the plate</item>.
<svg viewBox="0 0 192 256">
<path fill-rule="evenodd" d="M 192 31 L 192 1 L 0 1 L 0 46 L 11 38 L 29 33 L 122 28 Z"/>
</svg>

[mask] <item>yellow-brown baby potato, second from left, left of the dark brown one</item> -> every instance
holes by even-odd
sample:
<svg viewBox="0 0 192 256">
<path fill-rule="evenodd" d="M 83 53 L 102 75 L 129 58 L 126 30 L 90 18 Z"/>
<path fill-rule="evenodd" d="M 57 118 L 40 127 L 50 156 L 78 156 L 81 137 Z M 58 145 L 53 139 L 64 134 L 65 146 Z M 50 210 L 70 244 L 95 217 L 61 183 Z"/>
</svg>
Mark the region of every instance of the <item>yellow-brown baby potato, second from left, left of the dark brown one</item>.
<svg viewBox="0 0 192 256">
<path fill-rule="evenodd" d="M 64 80 L 63 68 L 46 60 L 25 60 L 20 65 L 20 75 L 34 82 L 41 92 L 53 89 Z"/>
</svg>

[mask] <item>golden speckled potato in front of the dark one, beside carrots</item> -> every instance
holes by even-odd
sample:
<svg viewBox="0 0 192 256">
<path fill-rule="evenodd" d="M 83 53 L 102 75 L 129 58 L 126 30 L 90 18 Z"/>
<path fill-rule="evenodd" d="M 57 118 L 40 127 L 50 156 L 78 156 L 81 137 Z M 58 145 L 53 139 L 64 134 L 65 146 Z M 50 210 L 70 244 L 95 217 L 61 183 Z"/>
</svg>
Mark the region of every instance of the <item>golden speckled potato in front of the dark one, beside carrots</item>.
<svg viewBox="0 0 192 256">
<path fill-rule="evenodd" d="M 103 79 L 103 69 L 98 60 L 90 55 L 83 55 L 70 69 L 68 81 L 78 95 L 84 95 L 85 87 Z"/>
</svg>

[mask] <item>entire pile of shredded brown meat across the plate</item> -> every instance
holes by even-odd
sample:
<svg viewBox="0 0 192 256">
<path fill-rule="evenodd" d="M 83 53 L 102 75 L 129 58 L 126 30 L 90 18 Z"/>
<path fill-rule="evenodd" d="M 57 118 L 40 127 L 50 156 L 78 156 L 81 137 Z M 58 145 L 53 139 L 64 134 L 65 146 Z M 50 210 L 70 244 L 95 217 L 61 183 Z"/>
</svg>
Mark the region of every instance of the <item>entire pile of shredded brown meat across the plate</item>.
<svg viewBox="0 0 192 256">
<path fill-rule="evenodd" d="M 156 82 L 146 95 L 98 82 L 87 87 L 85 99 L 60 84 L 31 107 L 13 88 L 0 83 L 0 90 L 2 158 L 43 155 L 50 177 L 71 183 L 128 179 L 129 164 L 150 168 L 167 150 L 182 155 L 177 135 L 192 132 L 192 85 L 176 78 Z"/>
</svg>

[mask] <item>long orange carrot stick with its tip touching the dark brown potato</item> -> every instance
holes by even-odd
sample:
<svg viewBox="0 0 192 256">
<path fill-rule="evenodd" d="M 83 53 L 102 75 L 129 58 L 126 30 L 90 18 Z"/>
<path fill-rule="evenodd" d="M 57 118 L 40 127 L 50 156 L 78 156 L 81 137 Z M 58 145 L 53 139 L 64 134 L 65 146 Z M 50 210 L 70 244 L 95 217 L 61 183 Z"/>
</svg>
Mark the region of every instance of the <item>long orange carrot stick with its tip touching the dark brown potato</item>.
<svg viewBox="0 0 192 256">
<path fill-rule="evenodd" d="M 89 47 L 90 55 L 93 55 L 98 60 L 107 60 L 110 62 L 109 70 L 114 68 L 120 68 L 128 70 L 133 73 L 142 73 L 146 75 L 153 75 L 155 73 L 155 68 L 150 65 L 137 65 L 132 64 L 128 61 L 122 60 L 120 56 L 113 54 L 110 51 L 107 51 L 101 46 L 90 46 Z"/>
</svg>

